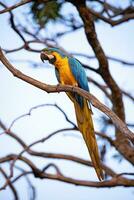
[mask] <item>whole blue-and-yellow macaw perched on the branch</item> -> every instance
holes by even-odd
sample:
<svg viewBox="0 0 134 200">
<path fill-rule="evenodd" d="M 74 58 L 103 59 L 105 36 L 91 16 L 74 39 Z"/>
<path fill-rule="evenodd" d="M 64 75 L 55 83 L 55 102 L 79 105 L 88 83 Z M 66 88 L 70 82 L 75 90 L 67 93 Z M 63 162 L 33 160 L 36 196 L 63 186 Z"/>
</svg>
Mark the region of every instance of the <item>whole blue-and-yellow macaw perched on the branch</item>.
<svg viewBox="0 0 134 200">
<path fill-rule="evenodd" d="M 56 77 L 60 84 L 78 86 L 89 91 L 86 73 L 82 64 L 75 58 L 63 53 L 58 48 L 45 48 L 41 51 L 41 60 L 48 60 L 55 66 Z M 103 180 L 98 146 L 94 133 L 92 111 L 89 102 L 74 92 L 66 92 L 74 103 L 77 124 L 87 145 L 91 160 L 99 180 Z"/>
</svg>

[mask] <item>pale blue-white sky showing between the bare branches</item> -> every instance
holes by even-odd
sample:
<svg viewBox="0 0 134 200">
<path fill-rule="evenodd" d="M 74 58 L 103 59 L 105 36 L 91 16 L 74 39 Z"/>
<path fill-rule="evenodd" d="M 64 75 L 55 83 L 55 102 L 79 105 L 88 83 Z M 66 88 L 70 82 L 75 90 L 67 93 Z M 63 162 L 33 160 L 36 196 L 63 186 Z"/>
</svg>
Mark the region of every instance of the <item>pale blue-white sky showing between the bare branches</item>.
<svg viewBox="0 0 134 200">
<path fill-rule="evenodd" d="M 68 9 L 70 7 L 68 6 Z M 16 9 L 16 15 L 22 8 Z M 22 11 L 22 10 L 21 10 Z M 20 17 L 21 18 L 21 17 Z M 0 16 L 0 46 L 2 48 L 12 49 L 20 46 L 22 43 L 19 40 L 18 36 L 11 30 L 8 24 L 8 14 Z M 128 22 L 117 27 L 110 27 L 105 23 L 101 22 L 96 24 L 96 30 L 98 38 L 103 46 L 105 52 L 109 56 L 115 56 L 117 58 L 126 59 L 130 62 L 133 62 L 134 58 L 134 22 Z M 10 36 L 10 37 L 9 37 Z M 75 38 L 75 40 L 74 40 Z M 72 45 L 73 41 L 73 45 Z M 93 54 L 91 48 L 88 45 L 84 31 L 81 29 L 69 36 L 62 37 L 59 39 L 61 46 L 67 51 L 81 52 Z M 34 77 L 38 80 L 41 80 L 48 84 L 57 84 L 57 80 L 54 74 L 54 68 L 52 66 L 48 67 L 48 64 L 44 64 L 44 67 L 32 68 L 30 64 L 26 62 L 16 62 L 15 60 L 34 60 L 41 64 L 39 54 L 28 53 L 20 51 L 18 53 L 8 54 L 7 57 L 11 60 L 12 64 L 25 74 Z M 82 58 L 79 58 L 82 60 Z M 82 60 L 85 61 L 85 60 Z M 90 63 L 96 66 L 95 61 L 90 61 Z M 41 64 L 42 65 L 42 64 Z M 110 71 L 118 82 L 119 86 L 134 94 L 134 69 L 128 67 L 126 70 L 125 66 L 117 64 L 115 62 L 110 62 Z M 102 81 L 97 75 L 93 72 L 88 73 L 89 76 L 93 76 L 96 80 Z M 76 122 L 73 105 L 70 100 L 64 93 L 60 94 L 47 94 L 44 91 L 41 91 L 28 83 L 25 83 L 15 77 L 2 65 L 0 64 L 0 117 L 6 123 L 7 126 L 10 126 L 11 122 L 18 116 L 28 113 L 29 109 L 33 106 L 45 104 L 45 103 L 57 103 L 61 106 L 71 120 Z M 93 93 L 100 101 L 103 103 L 105 99 L 101 92 L 98 92 L 96 88 L 91 84 L 90 91 Z M 131 101 L 125 99 L 125 111 L 127 113 L 127 120 L 133 122 L 133 111 L 134 106 Z M 95 108 L 94 112 L 94 121 L 96 129 L 100 128 L 98 125 L 100 113 Z M 24 139 L 27 144 L 30 144 L 37 139 L 40 139 L 52 131 L 62 128 L 70 127 L 69 124 L 65 122 L 64 117 L 60 112 L 57 112 L 55 108 L 44 107 L 38 108 L 32 112 L 30 117 L 25 117 L 18 120 L 12 130 L 18 134 L 19 137 Z M 72 137 L 67 134 L 58 134 L 52 140 L 35 146 L 37 150 L 44 150 L 47 152 L 57 152 L 57 153 L 66 153 L 73 154 L 85 159 L 88 159 L 88 152 L 84 145 L 83 140 L 79 133 L 75 133 L 76 137 Z M 15 143 L 14 140 L 9 139 L 6 135 L 0 136 L 0 156 L 4 156 L 8 153 L 19 153 L 21 148 Z M 40 164 L 40 167 L 43 167 L 49 160 L 40 160 L 38 158 L 32 158 L 36 164 Z M 44 163 L 45 162 L 45 163 Z M 96 180 L 96 175 L 94 170 L 89 170 L 87 167 L 80 167 L 79 165 L 73 164 L 68 161 L 54 161 L 64 172 L 65 175 L 72 176 L 74 178 L 81 179 L 93 179 Z M 18 164 L 20 164 L 18 162 Z M 117 172 L 132 171 L 133 168 L 127 162 L 120 163 L 117 161 L 111 161 L 110 153 L 108 157 L 107 164 L 112 166 Z M 25 166 L 24 166 L 25 167 Z M 7 166 L 5 166 L 7 168 Z M 34 185 L 37 188 L 37 200 L 41 199 L 77 199 L 77 200 L 88 200 L 88 199 L 108 199 L 108 200 L 132 200 L 134 198 L 133 188 L 110 188 L 110 189 L 96 189 L 96 188 L 86 188 L 80 186 L 69 185 L 65 183 L 60 183 L 58 181 L 51 180 L 39 180 L 33 177 L 30 177 Z M 0 179 L 0 185 L 3 183 L 3 179 Z M 28 186 L 26 181 L 21 179 L 16 184 L 17 190 L 20 191 L 21 195 L 20 200 L 28 199 Z M 13 196 L 9 188 L 0 192 L 0 199 L 2 200 L 12 200 Z"/>
</svg>

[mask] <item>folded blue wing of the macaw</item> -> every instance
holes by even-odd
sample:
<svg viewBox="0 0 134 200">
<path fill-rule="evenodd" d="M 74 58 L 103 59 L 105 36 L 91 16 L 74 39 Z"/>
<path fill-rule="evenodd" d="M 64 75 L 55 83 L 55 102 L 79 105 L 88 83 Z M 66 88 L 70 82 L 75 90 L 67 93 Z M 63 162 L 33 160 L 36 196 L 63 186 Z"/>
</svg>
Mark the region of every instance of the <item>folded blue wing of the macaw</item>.
<svg viewBox="0 0 134 200">
<path fill-rule="evenodd" d="M 82 64 L 73 57 L 69 57 L 68 62 L 69 62 L 72 74 L 74 75 L 78 83 L 78 86 L 86 91 L 89 91 L 87 76 Z M 83 97 L 81 97 L 80 95 L 76 93 L 74 95 L 79 105 L 83 107 Z"/>
</svg>

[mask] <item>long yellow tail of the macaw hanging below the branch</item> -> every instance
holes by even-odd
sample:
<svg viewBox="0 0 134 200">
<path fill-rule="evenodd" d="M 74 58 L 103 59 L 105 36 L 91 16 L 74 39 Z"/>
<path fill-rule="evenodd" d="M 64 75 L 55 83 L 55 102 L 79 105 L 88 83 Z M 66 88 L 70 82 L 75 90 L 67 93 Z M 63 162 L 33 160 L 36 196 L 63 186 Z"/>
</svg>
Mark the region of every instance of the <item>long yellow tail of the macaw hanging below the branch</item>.
<svg viewBox="0 0 134 200">
<path fill-rule="evenodd" d="M 75 107 L 76 118 L 78 123 L 78 128 L 81 131 L 85 143 L 87 145 L 93 166 L 95 168 L 96 174 L 99 180 L 104 179 L 104 174 L 100 164 L 98 146 L 94 133 L 94 126 L 92 121 L 92 111 L 89 109 L 87 100 L 84 99 L 84 107 L 81 108 L 76 100 L 72 99 Z"/>
</svg>

